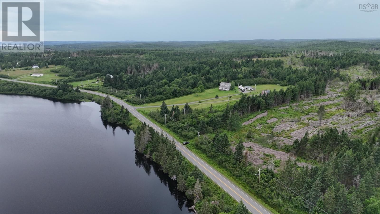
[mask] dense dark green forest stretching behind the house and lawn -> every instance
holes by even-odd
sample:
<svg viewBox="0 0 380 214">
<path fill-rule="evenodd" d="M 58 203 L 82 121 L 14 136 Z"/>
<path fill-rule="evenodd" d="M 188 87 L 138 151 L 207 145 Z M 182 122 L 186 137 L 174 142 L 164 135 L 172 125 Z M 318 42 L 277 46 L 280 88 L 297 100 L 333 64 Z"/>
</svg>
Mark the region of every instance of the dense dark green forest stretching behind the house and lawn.
<svg viewBox="0 0 380 214">
<path fill-rule="evenodd" d="M 314 92 L 324 89 L 326 81 L 339 77 L 332 68 L 339 64 L 349 66 L 366 63 L 378 66 L 378 55 L 346 53 L 335 56 L 303 58 L 309 68 L 293 69 L 282 60 L 260 60 L 255 57 L 287 56 L 286 51 L 173 51 L 173 50 L 83 50 L 77 52 L 49 51 L 46 54 L 0 54 L 3 68 L 23 67 L 32 64 L 65 65 L 57 69 L 61 82 L 104 78 L 104 86 L 133 91 L 133 104 L 156 102 L 196 93 L 197 88 L 215 88 L 221 81 L 241 85 L 280 84 L 296 85 L 311 81 Z M 16 65 L 16 62 L 19 64 Z M 38 63 L 37 63 L 38 62 Z M 106 77 L 111 74 L 113 78 Z M 309 84 L 307 84 L 309 86 Z M 301 92 L 302 93 L 302 92 Z M 306 94 L 305 94 L 306 95 Z M 307 96 L 307 95 L 306 95 Z"/>
</svg>

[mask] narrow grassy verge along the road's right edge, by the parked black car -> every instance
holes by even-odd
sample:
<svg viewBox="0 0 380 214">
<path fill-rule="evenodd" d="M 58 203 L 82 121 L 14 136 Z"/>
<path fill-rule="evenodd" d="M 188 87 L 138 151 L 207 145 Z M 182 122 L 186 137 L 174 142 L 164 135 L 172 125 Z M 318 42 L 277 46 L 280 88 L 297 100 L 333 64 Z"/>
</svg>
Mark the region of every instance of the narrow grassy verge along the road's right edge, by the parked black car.
<svg viewBox="0 0 380 214">
<path fill-rule="evenodd" d="M 222 173 L 226 178 L 228 178 L 229 180 L 231 180 L 235 185 L 237 185 L 239 188 L 241 188 L 242 190 L 244 190 L 245 192 L 249 193 L 249 195 L 254 198 L 256 201 L 258 201 L 261 205 L 263 205 L 265 208 L 269 209 L 270 211 L 272 211 L 274 214 L 279 214 L 279 212 L 277 212 L 274 208 L 272 208 L 271 206 L 269 206 L 266 202 L 264 202 L 263 198 L 260 197 L 260 195 L 257 195 L 252 189 L 248 188 L 247 185 L 244 184 L 244 182 L 242 182 L 241 180 L 239 179 L 236 179 L 235 177 L 233 177 L 230 172 L 226 171 L 225 169 L 223 168 L 220 168 L 218 166 L 218 164 L 211 160 L 210 158 L 208 158 L 206 155 L 204 155 L 201 151 L 197 150 L 194 148 L 193 146 L 193 143 L 196 139 L 192 139 L 192 140 L 189 140 L 189 139 L 182 139 L 182 137 L 179 137 L 177 134 L 173 133 L 170 129 L 166 128 L 165 126 L 162 126 L 160 123 L 158 123 L 157 121 L 155 121 L 154 119 L 152 119 L 151 117 L 149 117 L 148 115 L 148 112 L 146 111 L 143 111 L 141 109 L 138 110 L 140 113 L 142 113 L 146 118 L 148 118 L 150 121 L 152 121 L 153 123 L 155 123 L 158 127 L 160 127 L 161 129 L 165 130 L 166 133 L 170 134 L 171 136 L 173 136 L 174 138 L 176 138 L 177 140 L 179 140 L 180 142 L 182 141 L 189 141 L 190 144 L 187 144 L 187 148 L 190 149 L 193 153 L 195 153 L 199 158 L 201 158 L 202 160 L 206 161 L 209 165 L 211 165 L 215 170 L 217 170 L 218 172 Z"/>
</svg>

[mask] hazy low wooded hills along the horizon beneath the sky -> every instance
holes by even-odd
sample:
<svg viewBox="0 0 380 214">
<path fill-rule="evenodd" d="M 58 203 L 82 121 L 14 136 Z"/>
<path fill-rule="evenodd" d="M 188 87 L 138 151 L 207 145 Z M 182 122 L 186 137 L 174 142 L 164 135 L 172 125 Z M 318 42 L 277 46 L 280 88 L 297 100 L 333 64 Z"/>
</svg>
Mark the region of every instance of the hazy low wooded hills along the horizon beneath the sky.
<svg viewBox="0 0 380 214">
<path fill-rule="evenodd" d="M 146 49 L 146 50 L 210 50 L 210 51 L 278 51 L 278 50 L 326 50 L 366 51 L 380 50 L 379 38 L 344 39 L 282 39 L 282 40 L 229 40 L 229 41 L 57 41 L 45 42 L 52 50 L 87 49 Z"/>
</svg>

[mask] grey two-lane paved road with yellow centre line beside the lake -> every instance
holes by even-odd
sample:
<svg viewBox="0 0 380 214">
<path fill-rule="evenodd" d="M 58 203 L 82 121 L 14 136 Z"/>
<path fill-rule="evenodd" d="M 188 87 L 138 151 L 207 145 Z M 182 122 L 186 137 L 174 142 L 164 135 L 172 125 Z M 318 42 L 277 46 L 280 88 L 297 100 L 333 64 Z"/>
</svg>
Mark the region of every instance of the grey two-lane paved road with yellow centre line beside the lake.
<svg viewBox="0 0 380 214">
<path fill-rule="evenodd" d="M 0 80 L 6 80 L 6 81 L 12 81 L 9 79 L 4 79 L 0 78 Z M 27 84 L 32 84 L 32 85 L 40 85 L 40 86 L 47 86 L 47 87 L 54 87 L 53 85 L 45 85 L 45 84 L 40 84 L 40 83 L 31 83 L 31 82 L 24 82 L 24 81 L 19 81 L 19 80 L 13 80 L 14 82 L 19 82 L 19 83 L 27 83 Z M 96 94 L 102 97 L 107 96 L 107 94 L 99 93 L 96 91 L 88 91 L 88 90 L 81 90 L 82 92 L 85 93 L 90 93 L 90 94 Z M 119 105 L 124 105 L 126 109 L 129 110 L 129 112 L 141 120 L 142 122 L 147 123 L 148 125 L 152 126 L 154 129 L 157 131 L 161 132 L 161 128 L 159 128 L 157 125 L 152 123 L 150 120 L 148 120 L 146 117 L 144 117 L 141 113 L 136 111 L 134 107 L 131 105 L 128 105 L 127 103 L 123 102 L 121 99 L 114 97 L 114 96 L 109 96 L 114 102 L 116 102 Z M 163 131 L 164 134 L 168 135 L 169 138 L 173 138 L 170 136 L 168 133 Z M 175 139 L 174 139 L 175 140 Z M 249 211 L 251 211 L 254 214 L 271 214 L 268 209 L 263 208 L 260 204 L 258 204 L 257 201 L 253 200 L 250 196 L 248 196 L 247 193 L 245 193 L 243 190 L 241 190 L 239 187 L 236 185 L 232 184 L 225 176 L 220 174 L 218 171 L 216 171 L 214 168 L 212 168 L 209 164 L 205 163 L 201 158 L 196 156 L 194 153 L 192 153 L 190 150 L 188 150 L 184 145 L 179 143 L 178 141 L 175 140 L 176 147 L 177 149 L 184 155 L 185 158 L 187 158 L 191 163 L 194 165 L 198 166 L 201 171 L 206 174 L 207 177 L 209 177 L 211 180 L 213 180 L 216 184 L 218 184 L 223 190 L 225 190 L 228 194 L 230 194 L 234 199 L 237 201 L 242 200 L 247 207 Z"/>
</svg>

